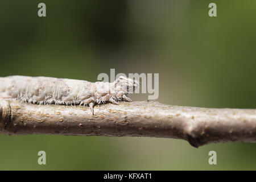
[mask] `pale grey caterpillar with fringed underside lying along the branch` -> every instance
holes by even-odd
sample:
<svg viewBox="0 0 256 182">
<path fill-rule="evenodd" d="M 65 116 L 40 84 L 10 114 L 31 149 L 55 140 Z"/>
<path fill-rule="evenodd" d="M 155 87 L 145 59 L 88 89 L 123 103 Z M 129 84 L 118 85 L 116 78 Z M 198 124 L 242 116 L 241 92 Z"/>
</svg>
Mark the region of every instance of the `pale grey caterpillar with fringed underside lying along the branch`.
<svg viewBox="0 0 256 182">
<path fill-rule="evenodd" d="M 89 82 L 67 78 L 8 76 L 0 77 L 0 98 L 16 99 L 29 104 L 63 104 L 89 106 L 131 101 L 127 94 L 135 90 L 137 81 L 119 77 L 114 82 Z"/>
</svg>

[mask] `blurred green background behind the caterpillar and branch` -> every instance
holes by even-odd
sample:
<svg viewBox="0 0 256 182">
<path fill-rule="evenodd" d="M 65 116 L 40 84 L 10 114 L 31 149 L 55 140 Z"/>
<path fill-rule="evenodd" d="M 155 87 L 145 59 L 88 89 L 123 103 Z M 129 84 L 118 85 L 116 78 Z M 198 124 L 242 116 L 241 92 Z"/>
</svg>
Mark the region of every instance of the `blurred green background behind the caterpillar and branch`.
<svg viewBox="0 0 256 182">
<path fill-rule="evenodd" d="M 208 16 L 211 2 L 216 18 Z M 256 1 L 1 0 L 0 9 L 1 77 L 159 73 L 163 104 L 256 108 Z M 250 143 L 193 148 L 176 139 L 0 135 L 0 144 L 2 170 L 256 169 Z M 211 150 L 217 165 L 208 164 Z"/>
</svg>

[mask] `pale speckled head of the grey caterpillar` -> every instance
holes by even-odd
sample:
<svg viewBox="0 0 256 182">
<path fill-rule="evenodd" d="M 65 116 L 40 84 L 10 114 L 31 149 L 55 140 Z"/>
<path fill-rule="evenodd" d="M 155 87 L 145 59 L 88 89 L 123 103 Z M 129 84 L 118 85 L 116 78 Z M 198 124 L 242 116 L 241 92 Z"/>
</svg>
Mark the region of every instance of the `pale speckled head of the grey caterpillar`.
<svg viewBox="0 0 256 182">
<path fill-rule="evenodd" d="M 132 93 L 138 86 L 137 81 L 124 76 L 120 76 L 115 80 L 115 92 L 123 91 L 125 94 Z"/>
</svg>

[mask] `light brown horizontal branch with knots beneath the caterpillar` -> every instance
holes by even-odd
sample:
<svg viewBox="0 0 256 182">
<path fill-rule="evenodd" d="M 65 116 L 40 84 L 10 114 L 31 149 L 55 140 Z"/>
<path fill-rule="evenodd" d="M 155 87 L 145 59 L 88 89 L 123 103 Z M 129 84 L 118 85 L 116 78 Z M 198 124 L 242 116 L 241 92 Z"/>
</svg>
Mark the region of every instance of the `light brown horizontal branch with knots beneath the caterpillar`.
<svg viewBox="0 0 256 182">
<path fill-rule="evenodd" d="M 0 100 L 0 133 L 160 137 L 194 146 L 256 142 L 256 109 L 208 109 L 155 101 L 94 107 Z"/>
</svg>

